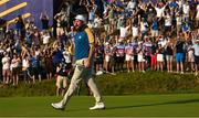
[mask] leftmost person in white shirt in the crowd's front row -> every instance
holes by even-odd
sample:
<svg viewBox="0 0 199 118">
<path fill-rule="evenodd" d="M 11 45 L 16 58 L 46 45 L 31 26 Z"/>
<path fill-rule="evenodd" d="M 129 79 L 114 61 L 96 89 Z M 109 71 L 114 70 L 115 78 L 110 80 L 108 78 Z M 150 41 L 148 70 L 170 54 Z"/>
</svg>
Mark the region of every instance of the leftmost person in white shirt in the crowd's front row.
<svg viewBox="0 0 199 118">
<path fill-rule="evenodd" d="M 9 84 L 10 82 L 10 57 L 6 52 L 4 57 L 2 58 L 2 75 L 3 75 L 3 84 Z"/>
</svg>

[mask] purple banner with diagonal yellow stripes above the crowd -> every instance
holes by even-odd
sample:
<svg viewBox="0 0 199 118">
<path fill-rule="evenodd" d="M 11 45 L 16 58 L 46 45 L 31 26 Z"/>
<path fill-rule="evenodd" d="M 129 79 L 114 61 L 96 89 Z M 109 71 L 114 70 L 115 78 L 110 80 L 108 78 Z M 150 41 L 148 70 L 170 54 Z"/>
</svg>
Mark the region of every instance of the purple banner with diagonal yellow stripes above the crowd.
<svg viewBox="0 0 199 118">
<path fill-rule="evenodd" d="M 0 18 L 7 20 L 10 28 L 18 15 L 34 19 L 34 24 L 41 28 L 40 14 L 46 12 L 50 25 L 53 23 L 53 0 L 0 0 Z"/>
</svg>

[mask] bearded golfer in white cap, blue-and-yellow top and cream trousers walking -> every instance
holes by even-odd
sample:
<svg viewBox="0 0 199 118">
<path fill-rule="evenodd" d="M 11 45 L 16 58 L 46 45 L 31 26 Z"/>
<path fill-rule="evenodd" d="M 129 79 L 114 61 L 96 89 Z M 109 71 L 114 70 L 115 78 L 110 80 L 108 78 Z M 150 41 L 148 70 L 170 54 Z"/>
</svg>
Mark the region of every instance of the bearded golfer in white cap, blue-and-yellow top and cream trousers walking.
<svg viewBox="0 0 199 118">
<path fill-rule="evenodd" d="M 75 43 L 75 71 L 71 79 L 67 92 L 60 103 L 51 104 L 53 108 L 63 110 L 69 103 L 70 98 L 78 87 L 82 79 L 84 79 L 91 88 L 93 96 L 95 97 L 95 106 L 90 110 L 104 109 L 105 105 L 102 101 L 102 96 L 94 81 L 92 71 L 93 56 L 94 56 L 94 35 L 86 25 L 86 17 L 84 14 L 77 14 L 75 17 L 74 26 L 76 29 L 76 35 L 74 36 Z"/>
</svg>

